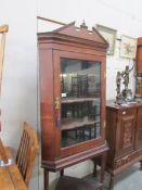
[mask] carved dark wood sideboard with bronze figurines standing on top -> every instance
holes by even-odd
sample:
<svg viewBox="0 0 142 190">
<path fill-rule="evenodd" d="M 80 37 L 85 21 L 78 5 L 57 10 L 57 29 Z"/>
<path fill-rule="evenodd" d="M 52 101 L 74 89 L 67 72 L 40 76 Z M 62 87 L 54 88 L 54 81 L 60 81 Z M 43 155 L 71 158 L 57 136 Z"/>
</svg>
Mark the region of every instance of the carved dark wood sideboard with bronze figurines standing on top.
<svg viewBox="0 0 142 190">
<path fill-rule="evenodd" d="M 142 160 L 142 103 L 122 106 L 108 102 L 106 139 L 109 145 L 106 167 L 113 189 L 114 176 Z"/>
</svg>

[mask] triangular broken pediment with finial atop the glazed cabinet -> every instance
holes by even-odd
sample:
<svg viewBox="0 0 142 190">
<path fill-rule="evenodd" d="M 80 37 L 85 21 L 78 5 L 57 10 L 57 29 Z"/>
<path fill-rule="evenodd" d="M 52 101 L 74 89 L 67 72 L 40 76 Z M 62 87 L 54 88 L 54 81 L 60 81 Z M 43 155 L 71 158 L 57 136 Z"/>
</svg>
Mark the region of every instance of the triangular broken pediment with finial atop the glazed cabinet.
<svg viewBox="0 0 142 190">
<path fill-rule="evenodd" d="M 107 41 L 94 27 L 92 27 L 92 30 L 88 30 L 85 22 L 80 25 L 80 27 L 76 27 L 75 22 L 73 22 L 70 24 L 60 27 L 59 29 L 53 30 L 53 33 L 101 42 L 107 46 Z"/>
</svg>

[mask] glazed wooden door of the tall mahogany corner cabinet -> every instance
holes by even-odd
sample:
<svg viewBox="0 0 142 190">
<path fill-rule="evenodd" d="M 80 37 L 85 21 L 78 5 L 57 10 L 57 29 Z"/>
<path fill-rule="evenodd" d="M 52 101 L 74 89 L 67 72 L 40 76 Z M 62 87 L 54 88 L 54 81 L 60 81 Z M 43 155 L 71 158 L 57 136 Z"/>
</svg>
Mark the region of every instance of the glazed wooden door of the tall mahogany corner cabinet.
<svg viewBox="0 0 142 190">
<path fill-rule="evenodd" d="M 101 101 L 101 61 L 95 56 L 78 54 L 56 53 L 54 62 L 59 141 L 61 149 L 72 149 L 73 152 L 87 150 L 89 144 L 94 147 L 94 140 L 100 143 L 101 118 L 104 117 Z"/>
</svg>

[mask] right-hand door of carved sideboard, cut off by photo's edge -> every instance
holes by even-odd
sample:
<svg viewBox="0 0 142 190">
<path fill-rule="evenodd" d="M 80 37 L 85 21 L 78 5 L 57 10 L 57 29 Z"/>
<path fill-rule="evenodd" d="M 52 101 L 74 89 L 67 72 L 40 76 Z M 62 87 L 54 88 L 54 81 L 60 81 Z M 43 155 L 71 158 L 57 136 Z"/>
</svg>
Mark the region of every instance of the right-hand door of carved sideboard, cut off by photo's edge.
<svg viewBox="0 0 142 190">
<path fill-rule="evenodd" d="M 137 131 L 135 131 L 135 148 L 142 147 L 142 107 L 138 107 L 137 114 Z"/>
</svg>

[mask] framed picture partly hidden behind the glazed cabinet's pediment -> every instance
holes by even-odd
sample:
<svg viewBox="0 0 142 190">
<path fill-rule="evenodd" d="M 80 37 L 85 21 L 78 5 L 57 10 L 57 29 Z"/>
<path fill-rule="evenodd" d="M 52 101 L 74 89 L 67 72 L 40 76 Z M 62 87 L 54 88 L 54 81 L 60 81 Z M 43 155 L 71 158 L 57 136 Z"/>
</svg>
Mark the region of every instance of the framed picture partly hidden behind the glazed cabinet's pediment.
<svg viewBox="0 0 142 190">
<path fill-rule="evenodd" d="M 107 49 L 107 54 L 113 55 L 115 51 L 115 40 L 116 40 L 116 29 L 108 28 L 106 26 L 95 25 L 98 31 L 105 38 L 109 47 Z"/>
</svg>

